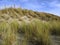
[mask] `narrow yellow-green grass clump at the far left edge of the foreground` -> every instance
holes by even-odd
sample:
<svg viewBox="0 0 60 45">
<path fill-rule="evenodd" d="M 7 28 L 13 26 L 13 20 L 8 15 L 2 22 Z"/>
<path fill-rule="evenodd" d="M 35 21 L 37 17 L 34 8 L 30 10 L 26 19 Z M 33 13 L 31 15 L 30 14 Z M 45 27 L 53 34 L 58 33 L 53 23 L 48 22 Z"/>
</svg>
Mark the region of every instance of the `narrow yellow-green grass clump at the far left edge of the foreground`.
<svg viewBox="0 0 60 45">
<path fill-rule="evenodd" d="M 8 24 L 5 21 L 0 22 L 0 39 L 2 40 L 1 42 L 2 45 L 4 45 L 5 39 L 7 38 L 7 30 Z"/>
</svg>

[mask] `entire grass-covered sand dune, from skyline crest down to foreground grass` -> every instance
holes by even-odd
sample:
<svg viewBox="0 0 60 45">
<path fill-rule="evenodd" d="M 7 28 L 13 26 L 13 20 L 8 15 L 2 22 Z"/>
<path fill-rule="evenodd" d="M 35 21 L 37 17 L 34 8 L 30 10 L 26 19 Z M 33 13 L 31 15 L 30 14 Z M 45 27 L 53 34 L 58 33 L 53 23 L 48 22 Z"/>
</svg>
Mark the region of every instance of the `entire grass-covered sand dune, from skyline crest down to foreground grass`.
<svg viewBox="0 0 60 45">
<path fill-rule="evenodd" d="M 0 45 L 52 45 L 60 35 L 60 17 L 27 9 L 0 10 Z"/>
</svg>

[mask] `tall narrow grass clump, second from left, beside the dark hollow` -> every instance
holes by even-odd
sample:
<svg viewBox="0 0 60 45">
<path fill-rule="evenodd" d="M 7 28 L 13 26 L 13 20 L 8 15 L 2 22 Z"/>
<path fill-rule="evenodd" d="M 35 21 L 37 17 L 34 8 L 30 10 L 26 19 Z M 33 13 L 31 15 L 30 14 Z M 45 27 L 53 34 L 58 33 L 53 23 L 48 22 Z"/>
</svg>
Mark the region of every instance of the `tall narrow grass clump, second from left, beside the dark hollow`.
<svg viewBox="0 0 60 45">
<path fill-rule="evenodd" d="M 17 40 L 17 31 L 18 31 L 18 28 L 19 28 L 19 24 L 16 20 L 13 20 L 10 24 L 10 42 L 11 42 L 11 45 L 18 45 L 18 40 Z"/>
</svg>

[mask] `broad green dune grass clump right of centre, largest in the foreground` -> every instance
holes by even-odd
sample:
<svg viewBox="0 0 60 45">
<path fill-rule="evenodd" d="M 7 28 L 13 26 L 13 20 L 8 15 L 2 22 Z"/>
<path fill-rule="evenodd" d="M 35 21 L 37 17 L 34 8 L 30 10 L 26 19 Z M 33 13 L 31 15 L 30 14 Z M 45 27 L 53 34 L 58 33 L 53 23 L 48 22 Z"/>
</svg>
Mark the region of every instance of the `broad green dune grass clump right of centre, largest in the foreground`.
<svg viewBox="0 0 60 45">
<path fill-rule="evenodd" d="M 33 19 L 30 23 L 23 22 L 18 32 L 24 35 L 22 45 L 50 45 L 48 24 L 44 24 L 38 19 Z"/>
</svg>

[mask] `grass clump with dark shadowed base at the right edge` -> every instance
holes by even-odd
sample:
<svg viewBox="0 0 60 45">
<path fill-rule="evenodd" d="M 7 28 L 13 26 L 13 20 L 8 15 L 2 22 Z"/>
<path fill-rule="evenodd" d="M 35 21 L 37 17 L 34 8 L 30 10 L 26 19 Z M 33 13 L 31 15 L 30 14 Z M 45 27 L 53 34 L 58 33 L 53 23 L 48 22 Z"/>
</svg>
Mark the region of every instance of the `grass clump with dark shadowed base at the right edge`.
<svg viewBox="0 0 60 45">
<path fill-rule="evenodd" d="M 50 33 L 52 35 L 60 35 L 60 22 L 59 21 L 53 21 L 52 23 L 50 23 Z"/>
</svg>

